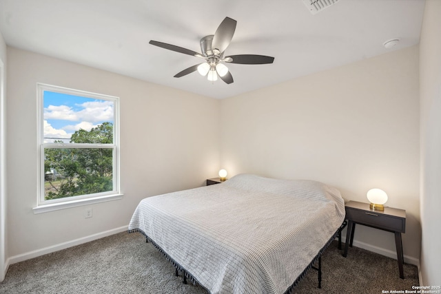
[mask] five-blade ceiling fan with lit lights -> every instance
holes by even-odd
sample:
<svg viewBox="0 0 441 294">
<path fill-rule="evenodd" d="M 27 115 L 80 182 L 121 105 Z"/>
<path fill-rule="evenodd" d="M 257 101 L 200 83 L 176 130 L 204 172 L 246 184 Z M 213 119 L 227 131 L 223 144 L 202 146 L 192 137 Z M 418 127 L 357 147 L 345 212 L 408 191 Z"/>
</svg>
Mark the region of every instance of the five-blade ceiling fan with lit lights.
<svg viewBox="0 0 441 294">
<path fill-rule="evenodd" d="M 225 49 L 227 49 L 229 43 L 233 39 L 234 31 L 236 30 L 236 23 L 234 19 L 225 17 L 220 23 L 214 34 L 204 36 L 201 39 L 201 53 L 194 52 L 193 50 L 178 47 L 163 42 L 151 40 L 149 43 L 161 48 L 172 50 L 183 54 L 205 59 L 205 62 L 193 65 L 178 72 L 174 77 L 181 78 L 196 70 L 203 76 L 207 76 L 209 81 L 217 81 L 218 76 L 227 84 L 233 83 L 233 76 L 229 72 L 228 67 L 223 63 L 238 63 L 238 64 L 267 64 L 273 63 L 274 57 L 255 54 L 240 54 L 230 55 L 224 57 Z"/>
</svg>

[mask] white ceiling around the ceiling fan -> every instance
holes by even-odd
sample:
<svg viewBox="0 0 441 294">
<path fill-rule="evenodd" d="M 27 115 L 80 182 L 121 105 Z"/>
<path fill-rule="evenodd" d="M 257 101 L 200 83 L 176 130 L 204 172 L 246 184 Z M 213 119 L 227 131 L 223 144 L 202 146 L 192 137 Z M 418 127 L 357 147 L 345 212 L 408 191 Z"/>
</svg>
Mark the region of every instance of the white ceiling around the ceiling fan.
<svg viewBox="0 0 441 294">
<path fill-rule="evenodd" d="M 423 10 L 424 0 L 340 0 L 315 15 L 301 0 L 0 0 L 0 32 L 15 48 L 225 98 L 418 44 Z M 174 78 L 201 59 L 148 43 L 201 52 L 225 17 L 237 21 L 225 55 L 274 63 L 227 64 L 230 85 L 198 72 Z"/>
</svg>

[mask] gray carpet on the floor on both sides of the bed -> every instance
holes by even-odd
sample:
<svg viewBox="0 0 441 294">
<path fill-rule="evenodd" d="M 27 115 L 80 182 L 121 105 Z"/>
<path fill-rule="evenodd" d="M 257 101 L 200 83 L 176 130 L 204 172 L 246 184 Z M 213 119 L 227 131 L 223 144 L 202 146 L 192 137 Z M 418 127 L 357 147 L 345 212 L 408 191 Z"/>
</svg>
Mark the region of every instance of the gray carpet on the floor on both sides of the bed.
<svg viewBox="0 0 441 294">
<path fill-rule="evenodd" d="M 322 255 L 322 289 L 310 270 L 294 293 L 382 293 L 418 285 L 416 266 L 404 264 L 404 280 L 396 260 L 356 247 L 343 258 L 336 243 Z M 0 293 L 203 293 L 183 284 L 174 267 L 140 233 L 107 238 L 12 264 Z"/>
</svg>

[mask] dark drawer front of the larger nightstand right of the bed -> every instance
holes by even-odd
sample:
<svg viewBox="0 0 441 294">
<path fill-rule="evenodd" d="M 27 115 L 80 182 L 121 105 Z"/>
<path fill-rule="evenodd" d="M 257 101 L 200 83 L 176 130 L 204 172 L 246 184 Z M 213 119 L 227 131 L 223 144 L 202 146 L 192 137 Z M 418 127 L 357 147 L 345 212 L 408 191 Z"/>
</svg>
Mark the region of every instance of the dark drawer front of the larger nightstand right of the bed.
<svg viewBox="0 0 441 294">
<path fill-rule="evenodd" d="M 405 219 L 396 218 L 394 216 L 384 215 L 376 211 L 362 211 L 358 209 L 346 208 L 346 218 L 353 222 L 365 224 L 367 226 L 376 227 L 393 232 L 404 233 Z"/>
</svg>

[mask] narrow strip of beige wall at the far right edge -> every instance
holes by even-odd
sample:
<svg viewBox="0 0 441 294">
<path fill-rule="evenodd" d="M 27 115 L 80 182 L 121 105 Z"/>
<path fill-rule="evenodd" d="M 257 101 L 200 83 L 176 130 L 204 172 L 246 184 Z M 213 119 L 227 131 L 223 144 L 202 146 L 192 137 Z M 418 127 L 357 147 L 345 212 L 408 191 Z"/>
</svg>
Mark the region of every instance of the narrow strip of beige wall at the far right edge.
<svg viewBox="0 0 441 294">
<path fill-rule="evenodd" d="M 422 285 L 441 284 L 441 1 L 427 0 L 420 39 Z"/>
</svg>

